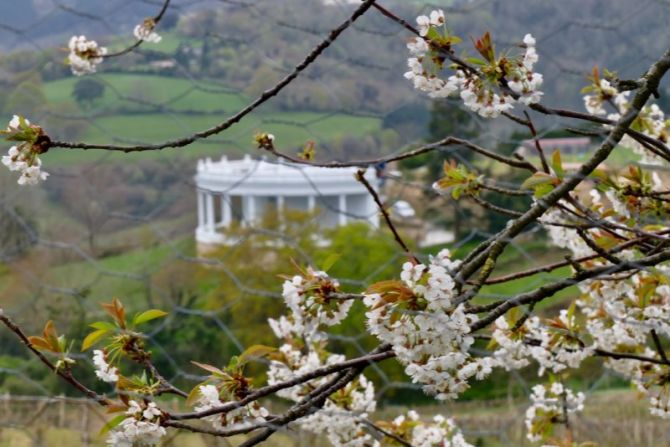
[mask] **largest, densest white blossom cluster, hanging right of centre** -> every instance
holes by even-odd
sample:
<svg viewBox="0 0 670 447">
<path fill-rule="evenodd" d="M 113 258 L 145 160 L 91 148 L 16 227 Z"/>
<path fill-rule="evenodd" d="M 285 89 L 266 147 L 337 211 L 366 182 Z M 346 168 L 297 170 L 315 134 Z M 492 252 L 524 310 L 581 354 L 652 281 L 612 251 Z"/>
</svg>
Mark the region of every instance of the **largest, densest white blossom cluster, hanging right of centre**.
<svg viewBox="0 0 670 447">
<path fill-rule="evenodd" d="M 465 391 L 468 380 L 487 377 L 496 362 L 474 358 L 470 325 L 477 321 L 455 305 L 451 272 L 459 265 L 448 250 L 429 265 L 405 263 L 401 281 L 373 285 L 365 297 L 370 333 L 390 343 L 405 372 L 428 394 L 451 399 Z"/>
</svg>

